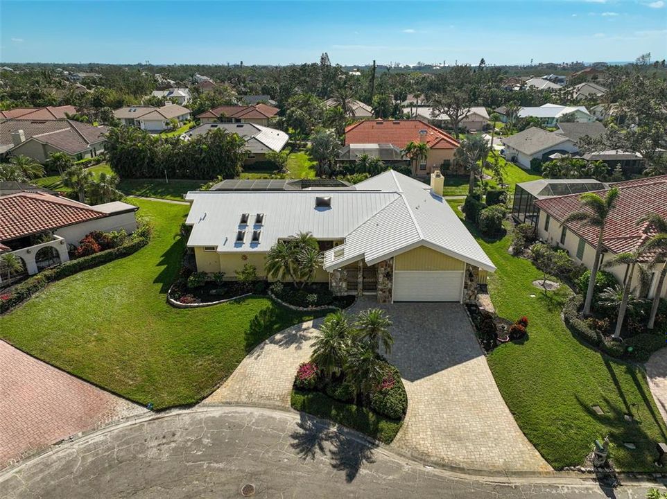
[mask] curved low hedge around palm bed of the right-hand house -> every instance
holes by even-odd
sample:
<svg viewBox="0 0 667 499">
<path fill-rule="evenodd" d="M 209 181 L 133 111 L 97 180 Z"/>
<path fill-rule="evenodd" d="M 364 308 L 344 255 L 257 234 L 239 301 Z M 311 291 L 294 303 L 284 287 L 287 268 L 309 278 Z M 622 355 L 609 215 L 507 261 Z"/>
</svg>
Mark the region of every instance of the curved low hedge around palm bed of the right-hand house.
<svg viewBox="0 0 667 499">
<path fill-rule="evenodd" d="M 586 324 L 579 315 L 584 304 L 582 295 L 573 295 L 565 304 L 563 315 L 565 324 L 568 326 L 575 338 L 595 347 L 610 357 L 646 362 L 651 354 L 665 346 L 665 337 L 661 333 L 639 333 L 627 338 L 622 343 L 607 338 L 605 335 L 594 331 Z M 632 347 L 632 351 L 628 351 Z"/>
</svg>

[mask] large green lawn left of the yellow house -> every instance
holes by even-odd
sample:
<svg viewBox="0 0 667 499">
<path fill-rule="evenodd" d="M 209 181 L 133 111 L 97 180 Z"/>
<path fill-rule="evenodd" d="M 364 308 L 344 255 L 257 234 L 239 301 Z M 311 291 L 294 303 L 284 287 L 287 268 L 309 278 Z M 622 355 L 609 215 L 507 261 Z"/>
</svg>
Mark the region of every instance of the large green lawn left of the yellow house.
<svg viewBox="0 0 667 499">
<path fill-rule="evenodd" d="M 210 394 L 259 342 L 312 318 L 252 297 L 207 308 L 166 304 L 187 207 L 135 200 L 155 225 L 139 252 L 49 285 L 0 317 L 0 338 L 156 409 Z"/>
</svg>

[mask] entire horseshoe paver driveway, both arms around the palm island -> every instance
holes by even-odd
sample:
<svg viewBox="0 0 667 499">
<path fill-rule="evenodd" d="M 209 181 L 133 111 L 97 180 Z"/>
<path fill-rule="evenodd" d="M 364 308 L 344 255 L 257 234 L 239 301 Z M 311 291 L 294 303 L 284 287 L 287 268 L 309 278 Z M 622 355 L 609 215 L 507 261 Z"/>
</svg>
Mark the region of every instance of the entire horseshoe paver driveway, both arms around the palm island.
<svg viewBox="0 0 667 499">
<path fill-rule="evenodd" d="M 377 306 L 359 299 L 349 313 Z M 408 414 L 391 446 L 469 471 L 551 471 L 505 405 L 462 306 L 380 307 L 394 322 L 390 360 L 408 393 Z M 289 408 L 294 374 L 311 355 L 314 332 L 306 322 L 259 344 L 203 403 Z"/>
</svg>

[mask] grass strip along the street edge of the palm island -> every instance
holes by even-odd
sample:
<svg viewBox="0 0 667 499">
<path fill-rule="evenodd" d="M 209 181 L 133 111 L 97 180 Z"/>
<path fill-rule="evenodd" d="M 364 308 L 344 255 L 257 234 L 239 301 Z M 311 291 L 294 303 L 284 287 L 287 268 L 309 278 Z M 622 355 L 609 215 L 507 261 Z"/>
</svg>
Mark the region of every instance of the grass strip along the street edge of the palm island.
<svg viewBox="0 0 667 499">
<path fill-rule="evenodd" d="M 322 392 L 292 390 L 292 408 L 329 419 L 389 444 L 403 426 L 403 421 L 388 419 L 358 405 L 331 399 Z"/>
</svg>

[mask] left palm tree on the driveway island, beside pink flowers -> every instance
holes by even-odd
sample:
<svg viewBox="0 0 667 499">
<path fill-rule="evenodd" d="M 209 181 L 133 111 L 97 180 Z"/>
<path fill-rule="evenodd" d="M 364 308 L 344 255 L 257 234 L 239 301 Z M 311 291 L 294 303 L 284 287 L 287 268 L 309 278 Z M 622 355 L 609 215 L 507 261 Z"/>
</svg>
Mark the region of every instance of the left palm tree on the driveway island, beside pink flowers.
<svg viewBox="0 0 667 499">
<path fill-rule="evenodd" d="M 329 380 L 340 374 L 349 347 L 349 322 L 342 310 L 327 315 L 313 342 L 311 360 Z"/>
</svg>

